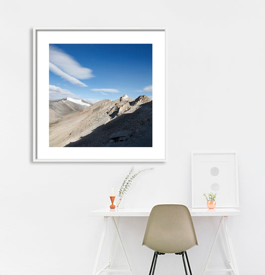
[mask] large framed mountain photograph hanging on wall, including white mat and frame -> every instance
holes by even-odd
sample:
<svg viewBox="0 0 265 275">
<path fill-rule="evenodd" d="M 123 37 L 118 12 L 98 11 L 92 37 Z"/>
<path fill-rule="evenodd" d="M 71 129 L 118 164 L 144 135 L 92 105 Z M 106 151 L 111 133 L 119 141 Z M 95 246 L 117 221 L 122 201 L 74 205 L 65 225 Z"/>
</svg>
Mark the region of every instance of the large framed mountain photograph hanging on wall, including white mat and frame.
<svg viewBox="0 0 265 275">
<path fill-rule="evenodd" d="M 165 161 L 165 97 L 165 28 L 33 30 L 33 161 Z"/>
</svg>

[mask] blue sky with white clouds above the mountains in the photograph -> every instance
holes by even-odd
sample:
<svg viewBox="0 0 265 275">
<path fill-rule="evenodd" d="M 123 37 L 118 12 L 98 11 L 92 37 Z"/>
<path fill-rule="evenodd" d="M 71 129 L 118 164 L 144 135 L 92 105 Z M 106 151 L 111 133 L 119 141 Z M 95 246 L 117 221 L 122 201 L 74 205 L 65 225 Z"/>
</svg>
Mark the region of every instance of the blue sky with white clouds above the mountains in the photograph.
<svg viewBox="0 0 265 275">
<path fill-rule="evenodd" d="M 50 99 L 152 97 L 152 44 L 50 44 Z"/>
</svg>

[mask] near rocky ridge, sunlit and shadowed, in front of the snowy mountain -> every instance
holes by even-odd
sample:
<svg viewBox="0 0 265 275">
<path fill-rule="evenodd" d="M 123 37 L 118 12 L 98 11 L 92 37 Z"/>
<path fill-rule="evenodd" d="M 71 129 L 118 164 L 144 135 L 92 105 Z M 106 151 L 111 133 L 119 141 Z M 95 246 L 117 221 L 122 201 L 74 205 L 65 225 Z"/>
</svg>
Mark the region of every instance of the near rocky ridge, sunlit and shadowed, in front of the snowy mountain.
<svg viewBox="0 0 265 275">
<path fill-rule="evenodd" d="M 122 142 L 110 139 L 115 131 L 124 130 L 132 134 Z M 141 147 L 139 139 L 144 147 L 152 146 L 152 99 L 146 95 L 134 100 L 127 94 L 113 101 L 103 99 L 50 125 L 50 147 Z"/>
</svg>

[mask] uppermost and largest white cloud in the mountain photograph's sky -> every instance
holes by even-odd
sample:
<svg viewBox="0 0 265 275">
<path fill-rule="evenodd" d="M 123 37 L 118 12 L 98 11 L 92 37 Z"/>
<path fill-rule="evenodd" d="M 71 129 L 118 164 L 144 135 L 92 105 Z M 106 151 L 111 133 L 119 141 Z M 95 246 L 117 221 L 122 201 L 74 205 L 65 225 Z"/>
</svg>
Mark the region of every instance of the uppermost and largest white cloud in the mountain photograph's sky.
<svg viewBox="0 0 265 275">
<path fill-rule="evenodd" d="M 92 70 L 82 67 L 71 55 L 61 49 L 50 46 L 50 62 L 59 67 L 63 72 L 77 79 L 92 78 Z"/>
</svg>

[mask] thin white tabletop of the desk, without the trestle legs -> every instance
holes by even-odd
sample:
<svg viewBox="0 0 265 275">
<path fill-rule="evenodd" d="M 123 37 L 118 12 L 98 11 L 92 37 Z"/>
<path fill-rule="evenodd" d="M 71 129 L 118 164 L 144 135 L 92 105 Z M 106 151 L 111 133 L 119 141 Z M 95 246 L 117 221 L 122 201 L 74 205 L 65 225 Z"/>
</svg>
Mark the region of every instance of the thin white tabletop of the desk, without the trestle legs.
<svg viewBox="0 0 265 275">
<path fill-rule="evenodd" d="M 103 216 L 103 217 L 148 217 L 151 208 L 123 208 L 123 209 L 109 209 L 100 208 L 89 211 L 89 216 Z M 208 217 L 208 216 L 238 216 L 241 211 L 236 208 L 189 208 L 192 217 Z"/>
</svg>

